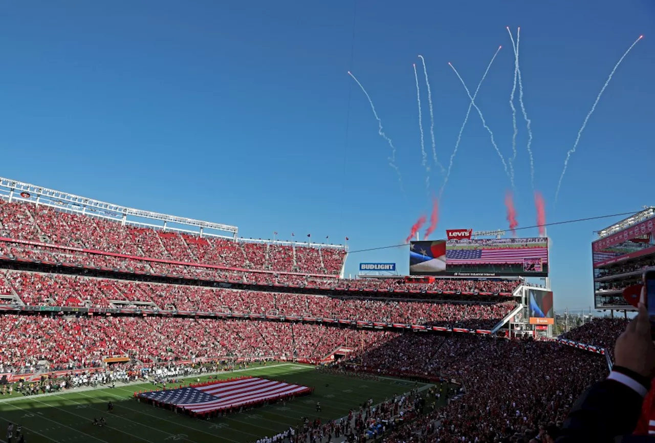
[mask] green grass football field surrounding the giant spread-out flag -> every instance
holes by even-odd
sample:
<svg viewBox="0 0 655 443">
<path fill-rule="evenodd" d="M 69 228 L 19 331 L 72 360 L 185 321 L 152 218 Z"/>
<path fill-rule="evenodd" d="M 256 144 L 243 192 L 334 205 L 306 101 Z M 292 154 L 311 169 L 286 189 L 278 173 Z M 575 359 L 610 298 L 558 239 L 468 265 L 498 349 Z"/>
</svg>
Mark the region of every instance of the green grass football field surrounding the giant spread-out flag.
<svg viewBox="0 0 655 443">
<path fill-rule="evenodd" d="M 7 425 L 13 422 L 22 425 L 26 443 L 253 442 L 299 425 L 301 417 L 320 417 L 322 421 L 338 419 L 370 397 L 377 403 L 415 386 L 413 381 L 325 374 L 313 366 L 300 364 L 257 366 L 237 374 L 220 374 L 219 377 L 236 375 L 284 380 L 314 387 L 315 391 L 312 395 L 295 398 L 286 406 L 271 404 L 212 420 L 177 415 L 132 398 L 134 391 L 153 389 L 149 384 L 71 390 L 45 396 L 13 395 L 0 399 L 0 441 L 4 442 Z M 208 377 L 201 377 L 202 381 L 206 379 Z M 419 383 L 418 386 L 424 385 Z M 107 412 L 109 401 L 114 404 L 112 413 Z M 322 412 L 318 414 L 315 410 L 317 401 L 322 405 Z M 105 417 L 107 425 L 102 428 L 92 425 L 94 417 Z M 12 441 L 16 442 L 15 431 Z"/>
</svg>

